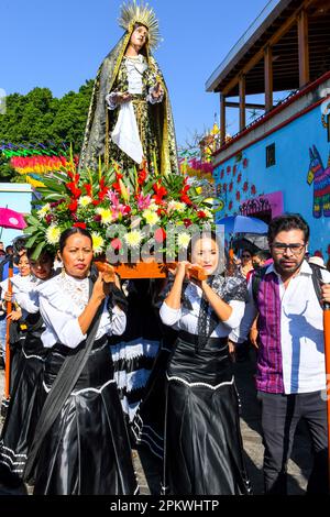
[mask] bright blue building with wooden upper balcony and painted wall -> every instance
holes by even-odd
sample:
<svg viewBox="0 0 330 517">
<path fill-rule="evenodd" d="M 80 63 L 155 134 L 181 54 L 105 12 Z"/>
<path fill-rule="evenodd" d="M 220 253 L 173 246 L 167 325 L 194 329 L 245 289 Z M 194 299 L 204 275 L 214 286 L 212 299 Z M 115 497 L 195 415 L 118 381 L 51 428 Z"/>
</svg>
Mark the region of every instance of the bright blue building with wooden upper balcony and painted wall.
<svg viewBox="0 0 330 517">
<path fill-rule="evenodd" d="M 330 1 L 272 0 L 206 84 L 219 94 L 213 177 L 222 207 L 270 221 L 299 212 L 330 254 Z M 274 102 L 282 92 L 284 99 Z M 262 96 L 261 102 L 250 96 Z M 249 99 L 250 97 L 250 99 Z M 239 132 L 226 139 L 228 108 Z M 262 114 L 246 124 L 248 110 Z"/>
</svg>

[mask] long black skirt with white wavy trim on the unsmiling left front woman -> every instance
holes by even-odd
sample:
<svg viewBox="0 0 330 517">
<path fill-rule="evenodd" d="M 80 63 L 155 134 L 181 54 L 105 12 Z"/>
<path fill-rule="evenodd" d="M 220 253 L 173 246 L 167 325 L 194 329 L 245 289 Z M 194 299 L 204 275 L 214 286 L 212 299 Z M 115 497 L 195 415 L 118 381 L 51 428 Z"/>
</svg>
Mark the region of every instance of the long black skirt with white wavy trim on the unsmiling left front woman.
<svg viewBox="0 0 330 517">
<path fill-rule="evenodd" d="M 52 349 L 45 396 L 67 353 Z M 138 484 L 107 337 L 95 342 L 74 392 L 41 447 L 34 494 L 134 494 Z"/>
</svg>

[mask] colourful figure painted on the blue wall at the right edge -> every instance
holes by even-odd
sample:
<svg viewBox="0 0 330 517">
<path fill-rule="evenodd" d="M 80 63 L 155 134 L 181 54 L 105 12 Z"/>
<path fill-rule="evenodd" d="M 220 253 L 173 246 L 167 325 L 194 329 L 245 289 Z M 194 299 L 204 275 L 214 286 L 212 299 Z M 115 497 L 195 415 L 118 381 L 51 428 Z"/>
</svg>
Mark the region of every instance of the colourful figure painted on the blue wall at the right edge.
<svg viewBox="0 0 330 517">
<path fill-rule="evenodd" d="M 309 157 L 307 183 L 308 185 L 314 183 L 312 216 L 316 219 L 322 216 L 330 217 L 330 155 L 327 168 L 316 145 L 309 147 Z"/>
</svg>

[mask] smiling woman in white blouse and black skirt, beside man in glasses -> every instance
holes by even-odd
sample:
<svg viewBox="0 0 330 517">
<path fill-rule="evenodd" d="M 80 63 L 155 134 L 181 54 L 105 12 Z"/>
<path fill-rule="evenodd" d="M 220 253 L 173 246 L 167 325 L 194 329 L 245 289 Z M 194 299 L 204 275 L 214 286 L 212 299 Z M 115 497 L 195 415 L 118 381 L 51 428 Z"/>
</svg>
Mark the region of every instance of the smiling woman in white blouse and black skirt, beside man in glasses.
<svg viewBox="0 0 330 517">
<path fill-rule="evenodd" d="M 246 283 L 218 274 L 215 234 L 193 238 L 188 257 L 178 263 L 160 312 L 165 324 L 178 330 L 166 371 L 163 490 L 174 495 L 248 494 L 227 342 L 243 316 Z M 202 266 L 206 280 L 189 277 L 195 264 Z"/>
</svg>

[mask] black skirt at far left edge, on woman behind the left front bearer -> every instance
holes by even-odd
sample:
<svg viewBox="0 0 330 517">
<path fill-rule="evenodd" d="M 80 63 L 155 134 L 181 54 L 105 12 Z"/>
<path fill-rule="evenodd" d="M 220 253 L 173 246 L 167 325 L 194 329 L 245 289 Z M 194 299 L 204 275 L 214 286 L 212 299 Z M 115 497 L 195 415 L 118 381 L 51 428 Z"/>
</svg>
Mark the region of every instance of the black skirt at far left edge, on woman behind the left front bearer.
<svg viewBox="0 0 330 517">
<path fill-rule="evenodd" d="M 16 355 L 15 382 L 0 440 L 0 482 L 4 485 L 22 480 L 44 400 L 42 383 L 47 350 L 43 348 L 41 332 L 41 329 L 28 332 Z"/>
</svg>

